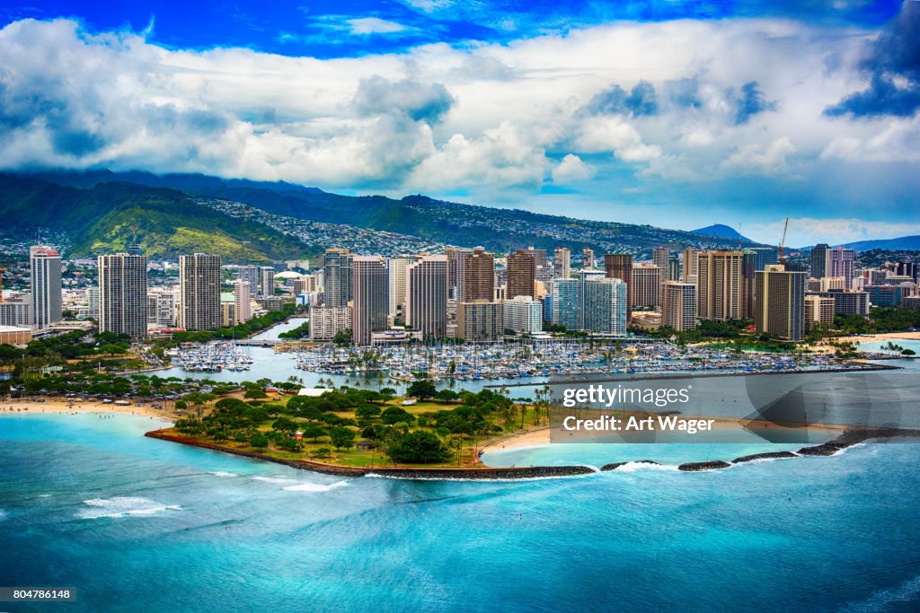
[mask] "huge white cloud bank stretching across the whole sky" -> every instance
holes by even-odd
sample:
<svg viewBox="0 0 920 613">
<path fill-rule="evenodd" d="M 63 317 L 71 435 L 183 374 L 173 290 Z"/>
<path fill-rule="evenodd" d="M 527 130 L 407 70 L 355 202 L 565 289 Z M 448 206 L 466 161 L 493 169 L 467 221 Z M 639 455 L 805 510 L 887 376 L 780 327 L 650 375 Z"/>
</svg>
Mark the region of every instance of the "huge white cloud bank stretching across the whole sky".
<svg viewBox="0 0 920 613">
<path fill-rule="evenodd" d="M 346 21 L 362 36 L 400 25 Z M 782 181 L 793 155 L 797 173 L 832 159 L 915 159 L 915 123 L 822 115 L 858 76 L 825 70 L 852 38 L 786 20 L 615 23 L 329 60 L 146 37 L 68 19 L 0 29 L 0 167 L 491 198 L 625 174 Z"/>
</svg>

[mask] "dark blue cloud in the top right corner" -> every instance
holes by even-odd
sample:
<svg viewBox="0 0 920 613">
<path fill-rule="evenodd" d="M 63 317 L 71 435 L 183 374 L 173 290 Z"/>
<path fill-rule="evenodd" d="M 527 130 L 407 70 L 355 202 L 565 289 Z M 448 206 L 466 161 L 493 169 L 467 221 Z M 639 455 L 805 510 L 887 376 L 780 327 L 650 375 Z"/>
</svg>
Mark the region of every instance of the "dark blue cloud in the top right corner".
<svg viewBox="0 0 920 613">
<path fill-rule="evenodd" d="M 920 108 L 920 2 L 908 0 L 878 39 L 868 45 L 859 68 L 868 88 L 825 109 L 831 117 L 907 117 Z"/>
</svg>

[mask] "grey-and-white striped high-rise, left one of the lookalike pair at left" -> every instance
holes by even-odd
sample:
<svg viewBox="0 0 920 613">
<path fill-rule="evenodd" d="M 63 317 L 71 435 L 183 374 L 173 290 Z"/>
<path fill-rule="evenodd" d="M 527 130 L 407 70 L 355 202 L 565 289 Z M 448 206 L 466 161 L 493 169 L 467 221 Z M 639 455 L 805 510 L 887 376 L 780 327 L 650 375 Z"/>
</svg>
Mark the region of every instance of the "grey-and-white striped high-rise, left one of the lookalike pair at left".
<svg viewBox="0 0 920 613">
<path fill-rule="evenodd" d="M 147 256 L 99 255 L 99 332 L 147 335 Z"/>
</svg>

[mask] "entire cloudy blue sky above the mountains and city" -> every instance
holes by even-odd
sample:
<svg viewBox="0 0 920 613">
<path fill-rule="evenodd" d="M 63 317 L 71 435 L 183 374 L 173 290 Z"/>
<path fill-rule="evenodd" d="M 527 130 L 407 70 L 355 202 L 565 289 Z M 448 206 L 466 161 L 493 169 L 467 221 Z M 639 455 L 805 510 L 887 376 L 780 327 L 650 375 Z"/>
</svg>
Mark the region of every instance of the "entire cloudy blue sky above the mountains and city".
<svg viewBox="0 0 920 613">
<path fill-rule="evenodd" d="M 0 168 L 920 233 L 916 2 L 279 4 L 6 3 Z"/>
</svg>

